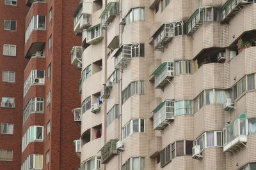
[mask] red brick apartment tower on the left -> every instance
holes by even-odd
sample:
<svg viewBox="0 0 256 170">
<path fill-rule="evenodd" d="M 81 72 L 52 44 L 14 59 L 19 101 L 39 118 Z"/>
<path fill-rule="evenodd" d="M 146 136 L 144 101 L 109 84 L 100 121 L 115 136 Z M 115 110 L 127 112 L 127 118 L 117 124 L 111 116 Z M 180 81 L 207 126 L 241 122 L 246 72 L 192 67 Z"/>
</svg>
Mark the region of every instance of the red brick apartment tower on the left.
<svg viewBox="0 0 256 170">
<path fill-rule="evenodd" d="M 0 169 L 75 169 L 81 99 L 70 48 L 79 1 L 4 0 L 1 11 Z"/>
</svg>

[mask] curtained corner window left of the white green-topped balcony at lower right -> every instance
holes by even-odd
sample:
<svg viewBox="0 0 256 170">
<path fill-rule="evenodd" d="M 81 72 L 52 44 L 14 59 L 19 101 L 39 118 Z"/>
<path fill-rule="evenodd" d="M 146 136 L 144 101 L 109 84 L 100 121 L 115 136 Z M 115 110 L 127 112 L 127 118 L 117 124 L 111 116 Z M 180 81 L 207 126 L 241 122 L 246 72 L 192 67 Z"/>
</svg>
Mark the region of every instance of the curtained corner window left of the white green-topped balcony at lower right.
<svg viewBox="0 0 256 170">
<path fill-rule="evenodd" d="M 204 132 L 199 138 L 194 141 L 195 145 L 200 145 L 200 150 L 211 146 L 223 146 L 222 145 L 222 132 L 211 131 Z"/>
</svg>

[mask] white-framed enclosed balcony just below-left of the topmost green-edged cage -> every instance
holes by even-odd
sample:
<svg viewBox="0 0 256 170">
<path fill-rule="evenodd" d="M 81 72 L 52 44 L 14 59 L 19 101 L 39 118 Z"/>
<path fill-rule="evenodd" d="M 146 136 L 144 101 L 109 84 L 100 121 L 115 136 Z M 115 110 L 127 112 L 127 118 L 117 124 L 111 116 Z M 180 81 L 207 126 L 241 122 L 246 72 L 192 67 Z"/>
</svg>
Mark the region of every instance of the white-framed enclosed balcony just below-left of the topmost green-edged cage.
<svg viewBox="0 0 256 170">
<path fill-rule="evenodd" d="M 100 24 L 95 25 L 94 27 L 91 27 L 86 31 L 87 31 L 86 43 L 90 45 L 98 43 L 103 39 L 102 30 L 100 29 Z"/>
</svg>

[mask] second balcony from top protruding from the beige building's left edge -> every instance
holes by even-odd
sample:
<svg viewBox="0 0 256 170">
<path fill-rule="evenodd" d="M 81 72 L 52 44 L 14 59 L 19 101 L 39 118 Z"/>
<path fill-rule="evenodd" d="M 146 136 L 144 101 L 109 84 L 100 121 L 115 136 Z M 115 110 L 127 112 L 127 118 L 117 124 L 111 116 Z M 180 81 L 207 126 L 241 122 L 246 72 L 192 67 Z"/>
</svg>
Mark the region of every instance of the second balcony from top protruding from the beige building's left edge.
<svg viewBox="0 0 256 170">
<path fill-rule="evenodd" d="M 82 69 L 82 46 L 73 46 L 71 50 L 71 64 L 77 66 L 77 68 Z"/>
</svg>

